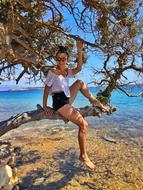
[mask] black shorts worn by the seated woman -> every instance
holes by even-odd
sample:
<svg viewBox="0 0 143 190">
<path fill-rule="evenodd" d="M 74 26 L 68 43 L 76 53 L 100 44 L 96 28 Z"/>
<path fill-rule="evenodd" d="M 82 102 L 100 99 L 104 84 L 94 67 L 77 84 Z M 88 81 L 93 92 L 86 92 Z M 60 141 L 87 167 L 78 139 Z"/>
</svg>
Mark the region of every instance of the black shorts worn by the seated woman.
<svg viewBox="0 0 143 190">
<path fill-rule="evenodd" d="M 69 98 L 64 92 L 55 93 L 53 96 L 53 109 L 57 111 L 59 108 L 69 103 Z"/>
</svg>

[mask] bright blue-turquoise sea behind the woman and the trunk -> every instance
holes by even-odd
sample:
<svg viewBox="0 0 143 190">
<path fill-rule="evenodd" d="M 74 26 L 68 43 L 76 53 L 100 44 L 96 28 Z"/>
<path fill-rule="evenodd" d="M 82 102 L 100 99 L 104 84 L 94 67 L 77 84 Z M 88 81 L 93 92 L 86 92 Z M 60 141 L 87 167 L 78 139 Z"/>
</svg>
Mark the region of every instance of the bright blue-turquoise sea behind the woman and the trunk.
<svg viewBox="0 0 143 190">
<path fill-rule="evenodd" d="M 143 86 L 127 87 L 133 94 L 143 92 Z M 90 88 L 93 94 L 99 91 L 96 88 Z M 8 119 L 14 114 L 36 109 L 36 104 L 42 104 L 43 90 L 28 91 L 0 91 L 0 121 Z M 51 97 L 48 99 L 48 105 L 51 106 Z M 89 105 L 89 101 L 81 94 L 73 104 L 75 107 L 84 107 Z M 98 119 L 88 118 L 91 126 L 114 127 L 120 130 L 128 128 L 136 129 L 136 133 L 143 134 L 143 97 L 128 97 L 123 92 L 114 90 L 111 97 L 111 105 L 117 108 L 112 115 L 103 116 Z"/>
</svg>

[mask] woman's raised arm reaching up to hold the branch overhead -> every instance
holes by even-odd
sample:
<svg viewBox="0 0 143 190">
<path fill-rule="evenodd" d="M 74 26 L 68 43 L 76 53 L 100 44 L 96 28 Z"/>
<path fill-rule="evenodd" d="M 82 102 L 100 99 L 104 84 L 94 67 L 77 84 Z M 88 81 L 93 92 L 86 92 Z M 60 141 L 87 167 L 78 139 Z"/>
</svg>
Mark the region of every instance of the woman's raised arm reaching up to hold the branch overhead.
<svg viewBox="0 0 143 190">
<path fill-rule="evenodd" d="M 77 66 L 72 69 L 72 74 L 75 75 L 78 72 L 81 71 L 82 69 L 82 64 L 83 64 L 83 42 L 82 41 L 77 41 Z"/>
</svg>

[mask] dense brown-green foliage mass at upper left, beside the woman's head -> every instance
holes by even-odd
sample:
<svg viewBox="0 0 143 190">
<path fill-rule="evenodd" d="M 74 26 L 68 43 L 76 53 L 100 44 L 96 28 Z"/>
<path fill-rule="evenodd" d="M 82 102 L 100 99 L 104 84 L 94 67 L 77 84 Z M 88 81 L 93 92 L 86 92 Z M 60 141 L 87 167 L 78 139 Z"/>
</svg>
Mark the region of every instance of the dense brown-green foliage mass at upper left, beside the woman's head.
<svg viewBox="0 0 143 190">
<path fill-rule="evenodd" d="M 3 0 L 0 2 L 0 74 L 14 77 L 16 83 L 25 75 L 41 80 L 53 65 L 57 44 L 72 48 L 71 40 L 58 31 L 63 15 L 52 1 Z M 45 18 L 44 18 L 45 17 Z M 15 76 L 20 65 L 22 72 Z"/>
</svg>

